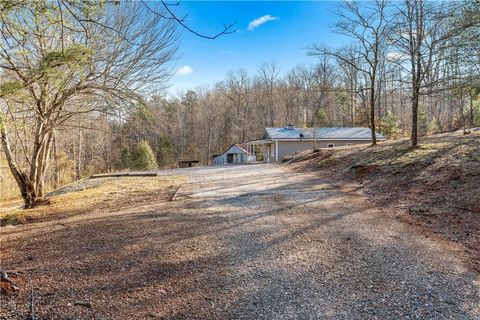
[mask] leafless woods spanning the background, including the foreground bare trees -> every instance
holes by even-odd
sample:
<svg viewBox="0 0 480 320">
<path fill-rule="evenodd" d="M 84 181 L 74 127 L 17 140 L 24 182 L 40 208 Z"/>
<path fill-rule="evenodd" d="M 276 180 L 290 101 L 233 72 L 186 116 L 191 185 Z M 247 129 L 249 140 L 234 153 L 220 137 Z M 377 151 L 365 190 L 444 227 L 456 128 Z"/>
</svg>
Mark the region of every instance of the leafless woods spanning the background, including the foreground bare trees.
<svg viewBox="0 0 480 320">
<path fill-rule="evenodd" d="M 165 89 L 182 25 L 163 2 L 0 8 L 0 188 L 14 196 L 15 179 L 27 206 L 94 173 L 206 165 L 265 127 L 368 126 L 415 146 L 418 135 L 480 125 L 474 0 L 345 2 L 335 30 L 350 46 L 312 44 L 312 65 L 265 62 L 180 97 Z M 144 141 L 155 159 L 138 165 Z"/>
</svg>

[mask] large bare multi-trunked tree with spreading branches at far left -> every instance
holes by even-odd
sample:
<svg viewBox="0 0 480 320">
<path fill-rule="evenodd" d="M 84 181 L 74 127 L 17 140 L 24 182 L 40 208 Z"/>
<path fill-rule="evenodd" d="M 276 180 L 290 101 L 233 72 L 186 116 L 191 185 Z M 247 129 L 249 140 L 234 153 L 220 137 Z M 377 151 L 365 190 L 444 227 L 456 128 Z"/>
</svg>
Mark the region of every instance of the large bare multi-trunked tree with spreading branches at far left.
<svg viewBox="0 0 480 320">
<path fill-rule="evenodd" d="M 92 7 L 96 10 L 88 10 Z M 108 112 L 108 104 L 93 101 L 142 100 L 140 94 L 168 79 L 175 22 L 145 11 L 140 3 L 127 2 L 105 7 L 32 2 L 2 11 L 0 65 L 9 81 L 2 81 L 0 134 L 26 207 L 44 195 L 59 126 L 80 114 Z M 23 162 L 12 152 L 9 136 L 16 128 L 15 123 L 7 128 L 8 117 L 21 117 L 33 128 L 27 137 L 33 146 Z"/>
</svg>

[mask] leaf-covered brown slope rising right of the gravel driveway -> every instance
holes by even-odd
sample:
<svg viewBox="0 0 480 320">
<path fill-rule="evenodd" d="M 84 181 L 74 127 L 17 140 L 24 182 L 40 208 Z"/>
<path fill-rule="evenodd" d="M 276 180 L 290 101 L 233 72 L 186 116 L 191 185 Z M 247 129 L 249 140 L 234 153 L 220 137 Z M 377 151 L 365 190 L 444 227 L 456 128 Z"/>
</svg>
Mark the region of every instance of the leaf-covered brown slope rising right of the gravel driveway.
<svg viewBox="0 0 480 320">
<path fill-rule="evenodd" d="M 480 131 L 423 137 L 376 147 L 307 151 L 284 159 L 294 171 L 358 184 L 398 219 L 460 243 L 480 270 Z"/>
</svg>

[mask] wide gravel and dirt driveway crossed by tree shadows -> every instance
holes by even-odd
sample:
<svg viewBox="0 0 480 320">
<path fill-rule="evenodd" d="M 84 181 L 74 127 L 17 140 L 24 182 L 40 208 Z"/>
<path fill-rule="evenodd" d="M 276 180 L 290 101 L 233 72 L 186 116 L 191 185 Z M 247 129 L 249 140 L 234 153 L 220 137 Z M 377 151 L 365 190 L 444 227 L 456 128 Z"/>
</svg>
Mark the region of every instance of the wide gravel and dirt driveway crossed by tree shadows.
<svg viewBox="0 0 480 320">
<path fill-rule="evenodd" d="M 273 165 L 164 171 L 174 202 L 2 228 L 2 319 L 480 319 L 455 246 Z M 147 181 L 147 180 L 146 180 Z M 147 182 L 146 182 L 147 183 Z"/>
</svg>

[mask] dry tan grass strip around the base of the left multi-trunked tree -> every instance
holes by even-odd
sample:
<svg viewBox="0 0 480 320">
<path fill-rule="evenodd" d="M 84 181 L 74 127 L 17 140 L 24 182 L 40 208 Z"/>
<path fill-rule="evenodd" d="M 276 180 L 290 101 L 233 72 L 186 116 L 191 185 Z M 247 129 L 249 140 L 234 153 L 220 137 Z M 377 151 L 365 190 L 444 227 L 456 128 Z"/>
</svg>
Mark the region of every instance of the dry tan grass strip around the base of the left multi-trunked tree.
<svg viewBox="0 0 480 320">
<path fill-rule="evenodd" d="M 184 177 L 121 177 L 85 179 L 51 193 L 51 204 L 21 208 L 20 200 L 0 206 L 0 223 L 21 224 L 43 221 L 93 210 L 111 210 L 145 200 L 168 201 Z"/>
</svg>

